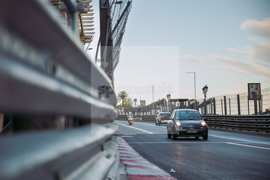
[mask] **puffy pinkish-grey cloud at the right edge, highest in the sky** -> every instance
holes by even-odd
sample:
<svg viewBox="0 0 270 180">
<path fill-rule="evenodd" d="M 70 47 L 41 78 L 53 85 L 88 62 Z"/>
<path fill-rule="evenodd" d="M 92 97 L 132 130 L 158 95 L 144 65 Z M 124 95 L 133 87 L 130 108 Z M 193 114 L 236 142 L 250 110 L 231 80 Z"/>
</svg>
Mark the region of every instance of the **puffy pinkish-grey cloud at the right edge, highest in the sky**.
<svg viewBox="0 0 270 180">
<path fill-rule="evenodd" d="M 240 29 L 253 35 L 270 38 L 270 18 L 264 18 L 263 21 L 247 19 L 240 25 Z"/>
</svg>

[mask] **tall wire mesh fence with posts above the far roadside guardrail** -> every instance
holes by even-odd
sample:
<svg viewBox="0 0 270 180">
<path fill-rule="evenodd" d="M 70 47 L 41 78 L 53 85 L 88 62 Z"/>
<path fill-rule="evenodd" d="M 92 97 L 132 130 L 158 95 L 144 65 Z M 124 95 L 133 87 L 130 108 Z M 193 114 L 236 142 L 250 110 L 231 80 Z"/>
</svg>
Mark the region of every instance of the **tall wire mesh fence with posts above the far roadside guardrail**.
<svg viewBox="0 0 270 180">
<path fill-rule="evenodd" d="M 206 115 L 261 115 L 270 106 L 270 88 L 262 89 L 257 100 L 248 100 L 248 93 L 214 96 L 196 99 L 196 109 Z M 159 112 L 172 112 L 175 109 L 195 109 L 195 103 L 190 101 L 173 102 L 158 106 L 117 108 L 118 114 L 132 112 L 135 115 L 156 115 Z M 206 111 L 206 112 L 205 112 Z"/>
</svg>

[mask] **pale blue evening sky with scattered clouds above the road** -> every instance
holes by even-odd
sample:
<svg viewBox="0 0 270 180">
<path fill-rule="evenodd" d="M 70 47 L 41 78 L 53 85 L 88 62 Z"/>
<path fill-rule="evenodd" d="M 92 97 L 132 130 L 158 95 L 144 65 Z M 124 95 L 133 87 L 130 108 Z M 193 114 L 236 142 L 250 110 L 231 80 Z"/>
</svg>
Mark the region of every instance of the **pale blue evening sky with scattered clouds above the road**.
<svg viewBox="0 0 270 180">
<path fill-rule="evenodd" d="M 87 54 L 94 60 L 99 1 L 91 5 L 95 36 Z M 269 0 L 133 0 L 114 71 L 115 93 L 126 91 L 148 105 L 168 93 L 171 99 L 194 99 L 196 92 L 203 99 L 205 85 L 209 98 L 247 92 L 248 83 L 269 88 L 269 9 Z"/>
</svg>

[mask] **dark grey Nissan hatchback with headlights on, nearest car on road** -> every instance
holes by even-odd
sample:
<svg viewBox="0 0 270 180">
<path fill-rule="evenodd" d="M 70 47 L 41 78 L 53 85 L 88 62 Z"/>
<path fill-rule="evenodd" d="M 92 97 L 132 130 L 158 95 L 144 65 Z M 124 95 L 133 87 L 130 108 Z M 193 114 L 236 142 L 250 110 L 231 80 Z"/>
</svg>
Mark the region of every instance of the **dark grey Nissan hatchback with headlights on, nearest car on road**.
<svg viewBox="0 0 270 180">
<path fill-rule="evenodd" d="M 176 109 L 167 123 L 167 136 L 173 137 L 203 137 L 208 139 L 208 127 L 199 111 L 194 109 Z"/>
</svg>

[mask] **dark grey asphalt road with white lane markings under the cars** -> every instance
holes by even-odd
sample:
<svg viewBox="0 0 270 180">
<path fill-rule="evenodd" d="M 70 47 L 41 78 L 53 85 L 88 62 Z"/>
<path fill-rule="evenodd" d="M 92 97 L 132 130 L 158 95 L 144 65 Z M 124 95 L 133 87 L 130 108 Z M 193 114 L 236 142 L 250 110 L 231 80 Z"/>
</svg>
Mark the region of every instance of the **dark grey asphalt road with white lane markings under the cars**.
<svg viewBox="0 0 270 180">
<path fill-rule="evenodd" d="M 202 137 L 167 138 L 166 125 L 115 120 L 123 137 L 149 162 L 180 179 L 270 179 L 270 137 L 210 130 Z M 176 172 L 171 173 L 173 169 Z"/>
</svg>

